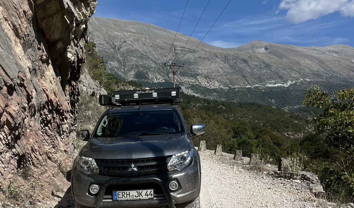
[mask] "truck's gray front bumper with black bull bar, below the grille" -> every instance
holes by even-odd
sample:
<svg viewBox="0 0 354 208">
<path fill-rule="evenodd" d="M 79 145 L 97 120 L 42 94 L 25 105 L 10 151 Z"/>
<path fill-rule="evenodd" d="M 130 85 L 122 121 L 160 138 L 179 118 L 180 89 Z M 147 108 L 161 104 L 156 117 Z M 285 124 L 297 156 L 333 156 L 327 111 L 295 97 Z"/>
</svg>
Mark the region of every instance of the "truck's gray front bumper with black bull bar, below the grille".
<svg viewBox="0 0 354 208">
<path fill-rule="evenodd" d="M 76 203 L 87 207 L 161 207 L 168 205 L 175 208 L 176 203 L 183 203 L 194 200 L 200 192 L 200 162 L 199 155 L 194 155 L 191 164 L 182 171 L 168 171 L 143 177 L 110 177 L 104 175 L 90 174 L 84 175 L 73 167 L 72 172 L 72 192 Z M 179 189 L 170 191 L 168 183 L 171 180 L 177 180 Z M 97 184 L 100 186 L 97 195 L 90 195 L 89 186 Z M 143 187 L 150 184 L 154 185 L 158 191 L 155 191 L 154 199 L 150 200 L 131 200 L 131 201 L 113 201 L 109 193 L 114 190 L 121 190 L 121 187 Z M 146 187 L 148 188 L 148 187 Z M 124 188 L 124 190 L 129 190 Z"/>
</svg>

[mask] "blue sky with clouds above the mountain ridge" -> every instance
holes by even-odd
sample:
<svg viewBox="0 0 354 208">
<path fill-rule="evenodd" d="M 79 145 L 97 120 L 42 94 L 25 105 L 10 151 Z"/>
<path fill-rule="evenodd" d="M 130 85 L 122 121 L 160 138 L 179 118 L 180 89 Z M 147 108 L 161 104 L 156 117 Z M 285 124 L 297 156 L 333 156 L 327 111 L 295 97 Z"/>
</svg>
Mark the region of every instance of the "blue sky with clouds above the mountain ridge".
<svg viewBox="0 0 354 208">
<path fill-rule="evenodd" d="M 229 0 L 98 0 L 96 17 L 154 24 L 201 40 Z M 187 7 L 185 7 L 187 3 Z M 203 42 L 230 48 L 252 40 L 354 47 L 354 0 L 231 0 Z"/>
</svg>

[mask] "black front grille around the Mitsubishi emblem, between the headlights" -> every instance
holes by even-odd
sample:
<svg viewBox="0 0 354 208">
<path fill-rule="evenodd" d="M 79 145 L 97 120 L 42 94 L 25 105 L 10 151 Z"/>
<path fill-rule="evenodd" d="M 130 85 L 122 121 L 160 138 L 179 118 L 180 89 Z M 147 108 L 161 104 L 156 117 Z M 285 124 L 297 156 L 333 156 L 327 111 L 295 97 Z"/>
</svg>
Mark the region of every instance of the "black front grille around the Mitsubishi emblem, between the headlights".
<svg viewBox="0 0 354 208">
<path fill-rule="evenodd" d="M 162 156 L 137 159 L 96 159 L 95 161 L 99 168 L 99 174 L 124 176 L 154 174 L 162 169 L 167 171 L 169 160 L 169 156 Z M 127 172 L 132 163 L 137 167 L 137 172 Z"/>
</svg>

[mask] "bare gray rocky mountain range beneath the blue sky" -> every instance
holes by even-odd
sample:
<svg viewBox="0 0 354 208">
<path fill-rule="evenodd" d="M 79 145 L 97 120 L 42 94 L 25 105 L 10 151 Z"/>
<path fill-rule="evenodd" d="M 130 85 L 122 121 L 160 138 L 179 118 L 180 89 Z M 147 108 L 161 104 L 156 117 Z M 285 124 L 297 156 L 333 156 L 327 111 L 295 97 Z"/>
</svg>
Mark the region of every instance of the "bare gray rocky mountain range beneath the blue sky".
<svg viewBox="0 0 354 208">
<path fill-rule="evenodd" d="M 254 40 L 237 48 L 201 43 L 192 53 L 199 40 L 191 38 L 177 59 L 188 36 L 178 33 L 169 53 L 174 31 L 101 17 L 91 18 L 91 25 L 91 40 L 97 44 L 108 70 L 148 87 L 171 82 L 172 73 L 165 62 L 185 64 L 177 76 L 185 92 L 228 101 L 263 97 L 263 103 L 276 103 L 289 94 L 284 89 L 289 86 L 296 88 L 292 89 L 296 94 L 301 89 L 303 98 L 306 86 L 318 84 L 331 89 L 354 83 L 354 48 L 347 45 L 298 47 Z"/>
</svg>

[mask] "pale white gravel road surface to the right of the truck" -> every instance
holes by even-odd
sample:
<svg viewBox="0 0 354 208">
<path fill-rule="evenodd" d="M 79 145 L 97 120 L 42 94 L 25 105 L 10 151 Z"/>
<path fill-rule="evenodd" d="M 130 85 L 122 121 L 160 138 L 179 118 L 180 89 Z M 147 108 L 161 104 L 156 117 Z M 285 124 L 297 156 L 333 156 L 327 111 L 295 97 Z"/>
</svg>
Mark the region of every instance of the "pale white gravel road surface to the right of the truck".
<svg viewBox="0 0 354 208">
<path fill-rule="evenodd" d="M 327 207 L 291 181 L 249 171 L 228 156 L 200 152 L 202 208 Z"/>
</svg>

